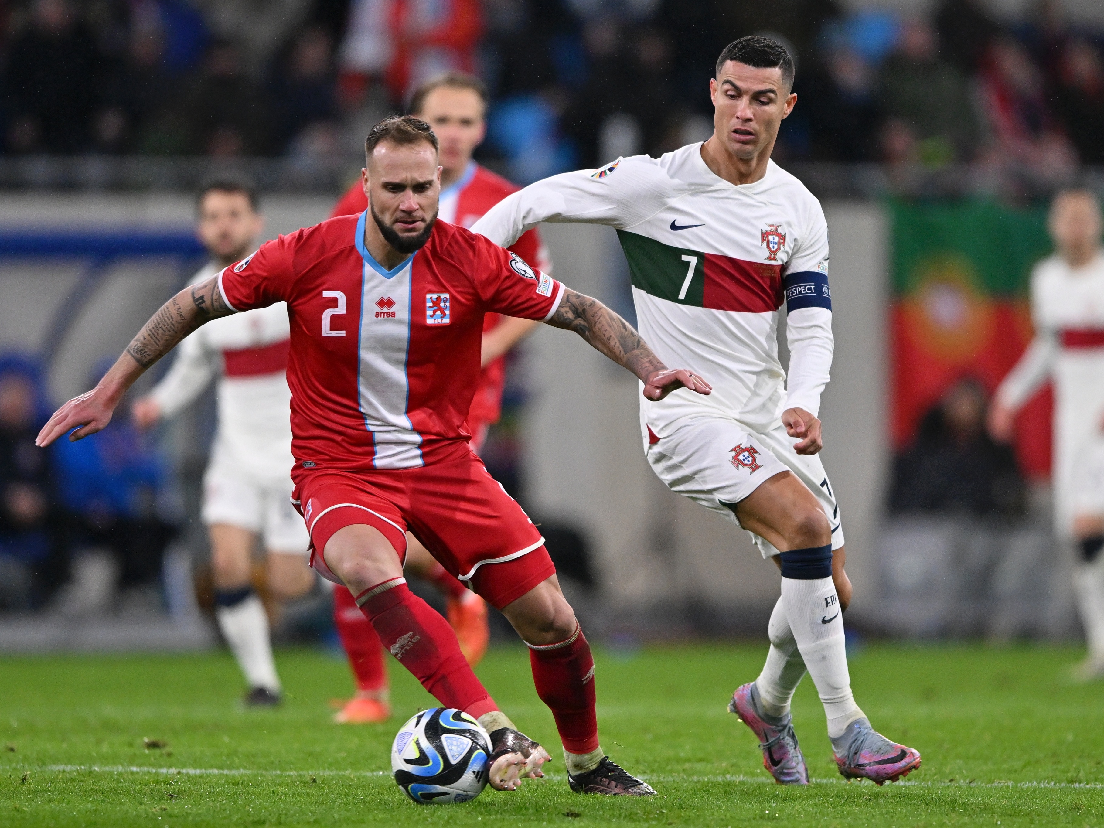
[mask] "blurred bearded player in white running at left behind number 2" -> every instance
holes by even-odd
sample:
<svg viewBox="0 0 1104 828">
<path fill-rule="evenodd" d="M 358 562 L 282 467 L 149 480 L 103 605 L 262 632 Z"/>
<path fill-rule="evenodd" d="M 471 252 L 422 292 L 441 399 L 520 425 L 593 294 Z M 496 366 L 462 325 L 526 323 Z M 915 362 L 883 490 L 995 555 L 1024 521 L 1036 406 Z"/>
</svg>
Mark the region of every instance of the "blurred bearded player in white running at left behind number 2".
<svg viewBox="0 0 1104 828">
<path fill-rule="evenodd" d="M 264 225 L 256 195 L 244 182 L 211 182 L 198 208 L 197 233 L 211 261 L 191 284 L 243 259 Z M 254 705 L 280 700 L 268 616 L 252 585 L 257 537 L 268 552 L 274 597 L 297 597 L 315 582 L 307 530 L 290 500 L 289 336 L 284 302 L 217 319 L 180 343 L 172 368 L 134 406 L 135 421 L 148 428 L 217 380 L 219 431 L 203 477 L 202 518 L 211 538 L 215 618 L 245 673 L 245 701 Z"/>
</svg>

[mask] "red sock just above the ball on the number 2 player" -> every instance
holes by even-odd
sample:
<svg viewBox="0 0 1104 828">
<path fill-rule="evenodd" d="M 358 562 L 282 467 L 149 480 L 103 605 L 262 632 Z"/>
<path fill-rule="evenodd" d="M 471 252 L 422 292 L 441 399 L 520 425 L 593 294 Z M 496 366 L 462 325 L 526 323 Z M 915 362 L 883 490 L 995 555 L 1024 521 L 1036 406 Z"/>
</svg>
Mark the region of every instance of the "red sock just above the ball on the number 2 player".
<svg viewBox="0 0 1104 828">
<path fill-rule="evenodd" d="M 477 719 L 498 710 L 471 672 L 448 622 L 410 591 L 406 578 L 391 578 L 365 590 L 357 596 L 357 604 L 383 646 L 437 701 Z"/>
</svg>

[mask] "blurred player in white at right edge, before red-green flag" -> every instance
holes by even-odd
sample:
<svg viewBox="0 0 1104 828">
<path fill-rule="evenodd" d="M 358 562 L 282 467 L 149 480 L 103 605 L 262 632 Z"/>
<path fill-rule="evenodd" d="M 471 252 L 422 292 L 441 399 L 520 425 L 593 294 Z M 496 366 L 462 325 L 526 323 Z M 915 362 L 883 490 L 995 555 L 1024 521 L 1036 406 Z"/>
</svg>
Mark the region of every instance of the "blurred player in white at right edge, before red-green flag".
<svg viewBox="0 0 1104 828">
<path fill-rule="evenodd" d="M 1101 210 L 1084 190 L 1059 193 L 1050 210 L 1054 255 L 1031 274 L 1036 337 L 997 390 L 996 439 L 1012 437 L 1016 413 L 1054 382 L 1054 531 L 1076 549 L 1074 586 L 1089 655 L 1082 679 L 1104 678 L 1104 253 Z"/>
</svg>

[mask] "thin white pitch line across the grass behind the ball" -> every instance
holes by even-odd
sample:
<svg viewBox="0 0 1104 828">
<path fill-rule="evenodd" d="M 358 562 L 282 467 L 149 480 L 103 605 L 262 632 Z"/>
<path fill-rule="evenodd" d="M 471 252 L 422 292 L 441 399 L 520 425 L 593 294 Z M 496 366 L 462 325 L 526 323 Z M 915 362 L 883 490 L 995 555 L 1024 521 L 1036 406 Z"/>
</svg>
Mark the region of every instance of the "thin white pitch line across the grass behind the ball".
<svg viewBox="0 0 1104 828">
<path fill-rule="evenodd" d="M 153 774 L 166 774 L 166 775 L 181 775 L 181 776 L 390 776 L 388 771 L 266 771 L 266 769 L 250 769 L 250 768 L 223 768 L 223 767 L 142 767 L 139 765 L 46 765 L 44 767 L 24 767 L 25 771 L 51 771 L 51 772 L 96 772 L 96 773 L 153 773 Z M 548 774 L 549 778 L 555 779 L 563 774 L 551 773 Z M 641 775 L 645 781 L 651 782 L 750 782 L 750 783 L 773 783 L 773 779 L 768 779 L 765 776 L 736 776 L 736 775 L 724 775 L 724 776 L 677 776 L 677 775 L 654 775 L 648 774 L 647 776 Z M 847 779 L 840 778 L 827 778 L 827 779 L 810 779 L 810 782 L 818 785 L 831 784 L 831 785 L 842 785 L 847 784 Z M 1097 782 L 1009 782 L 1009 781 L 998 781 L 998 782 L 925 782 L 922 779 L 901 779 L 900 782 L 890 783 L 891 785 L 905 785 L 909 787 L 953 787 L 953 788 L 1081 788 L 1081 789 L 1101 789 L 1104 788 L 1104 783 Z"/>
</svg>

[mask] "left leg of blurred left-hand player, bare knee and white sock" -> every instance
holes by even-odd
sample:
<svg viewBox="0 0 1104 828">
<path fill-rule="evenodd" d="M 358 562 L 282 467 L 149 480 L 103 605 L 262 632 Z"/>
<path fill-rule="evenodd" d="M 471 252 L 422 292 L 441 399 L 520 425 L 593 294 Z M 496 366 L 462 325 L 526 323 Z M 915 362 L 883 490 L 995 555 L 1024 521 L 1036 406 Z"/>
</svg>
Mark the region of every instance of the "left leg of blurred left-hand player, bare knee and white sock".
<svg viewBox="0 0 1104 828">
<path fill-rule="evenodd" d="M 263 688 L 275 697 L 280 686 L 268 637 L 268 616 L 250 580 L 256 535 L 241 527 L 214 523 L 210 538 L 219 628 L 250 688 Z"/>
</svg>

